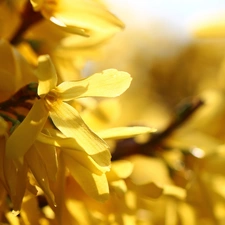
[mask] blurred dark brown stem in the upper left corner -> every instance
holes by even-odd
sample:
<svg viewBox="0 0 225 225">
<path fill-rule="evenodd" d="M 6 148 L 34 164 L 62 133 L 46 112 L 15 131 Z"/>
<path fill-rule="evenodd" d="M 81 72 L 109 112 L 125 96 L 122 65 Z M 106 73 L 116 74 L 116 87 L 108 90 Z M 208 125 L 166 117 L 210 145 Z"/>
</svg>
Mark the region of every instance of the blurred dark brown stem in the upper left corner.
<svg viewBox="0 0 225 225">
<path fill-rule="evenodd" d="M 24 35 L 24 33 L 35 23 L 39 22 L 42 19 L 40 12 L 34 12 L 30 1 L 27 1 L 24 11 L 21 13 L 21 25 L 18 30 L 15 32 L 11 39 L 11 44 L 18 44 Z"/>
</svg>

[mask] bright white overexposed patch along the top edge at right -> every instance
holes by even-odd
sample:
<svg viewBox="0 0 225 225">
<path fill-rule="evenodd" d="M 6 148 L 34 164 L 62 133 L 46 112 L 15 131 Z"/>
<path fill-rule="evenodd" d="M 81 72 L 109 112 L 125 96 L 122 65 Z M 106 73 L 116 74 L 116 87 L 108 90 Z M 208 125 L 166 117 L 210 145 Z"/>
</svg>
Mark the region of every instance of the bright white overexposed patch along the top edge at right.
<svg viewBox="0 0 225 225">
<path fill-rule="evenodd" d="M 160 21 L 164 25 L 179 28 L 181 35 L 182 32 L 189 32 L 196 23 L 206 22 L 225 11 L 225 2 L 222 0 L 107 0 L 106 3 L 128 25 L 142 27 L 150 21 Z"/>
</svg>

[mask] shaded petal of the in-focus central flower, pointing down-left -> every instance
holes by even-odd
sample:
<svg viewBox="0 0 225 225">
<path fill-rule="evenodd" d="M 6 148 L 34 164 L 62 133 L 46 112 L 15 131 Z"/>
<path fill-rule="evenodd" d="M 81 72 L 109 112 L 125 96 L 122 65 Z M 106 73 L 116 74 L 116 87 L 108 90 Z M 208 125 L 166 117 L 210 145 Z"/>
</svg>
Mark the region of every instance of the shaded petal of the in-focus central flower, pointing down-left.
<svg viewBox="0 0 225 225">
<path fill-rule="evenodd" d="M 48 118 L 48 111 L 42 99 L 36 101 L 23 122 L 15 129 L 6 143 L 6 156 L 23 156 L 36 140 Z"/>
</svg>

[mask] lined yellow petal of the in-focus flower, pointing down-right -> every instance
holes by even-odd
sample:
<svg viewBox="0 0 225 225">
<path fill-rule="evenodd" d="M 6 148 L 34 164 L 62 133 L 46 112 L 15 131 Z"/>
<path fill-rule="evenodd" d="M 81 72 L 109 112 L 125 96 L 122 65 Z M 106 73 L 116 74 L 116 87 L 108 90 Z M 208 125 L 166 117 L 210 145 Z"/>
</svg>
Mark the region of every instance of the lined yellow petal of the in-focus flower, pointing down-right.
<svg viewBox="0 0 225 225">
<path fill-rule="evenodd" d="M 90 130 L 72 106 L 56 101 L 49 113 L 55 126 L 66 137 L 76 139 L 77 143 L 100 166 L 110 165 L 111 155 L 108 145 Z"/>
</svg>

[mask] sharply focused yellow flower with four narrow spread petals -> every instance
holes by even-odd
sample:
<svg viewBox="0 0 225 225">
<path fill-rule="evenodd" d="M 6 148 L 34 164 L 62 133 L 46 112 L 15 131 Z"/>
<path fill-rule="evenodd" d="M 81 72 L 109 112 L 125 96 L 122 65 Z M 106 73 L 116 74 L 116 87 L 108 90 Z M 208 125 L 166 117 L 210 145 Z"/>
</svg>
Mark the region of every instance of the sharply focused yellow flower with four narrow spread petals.
<svg viewBox="0 0 225 225">
<path fill-rule="evenodd" d="M 118 96 L 129 87 L 130 75 L 110 69 L 83 80 L 66 81 L 56 86 L 57 75 L 50 58 L 41 56 L 37 76 L 40 99 L 34 103 L 25 120 L 9 137 L 7 155 L 12 158 L 23 156 L 36 140 L 48 115 L 66 137 L 75 138 L 77 144 L 88 154 L 105 151 L 108 148 L 106 143 L 86 126 L 79 113 L 65 101 L 89 96 Z M 18 151 L 15 151 L 15 148 L 18 148 Z"/>
</svg>

